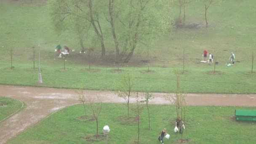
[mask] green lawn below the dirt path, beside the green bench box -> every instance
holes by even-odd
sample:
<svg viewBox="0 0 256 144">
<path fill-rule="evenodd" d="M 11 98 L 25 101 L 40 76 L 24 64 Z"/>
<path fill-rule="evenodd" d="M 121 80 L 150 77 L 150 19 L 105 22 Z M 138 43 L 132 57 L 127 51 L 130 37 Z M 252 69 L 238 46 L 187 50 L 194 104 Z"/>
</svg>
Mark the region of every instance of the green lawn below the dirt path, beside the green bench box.
<svg viewBox="0 0 256 144">
<path fill-rule="evenodd" d="M 131 104 L 132 107 L 135 104 Z M 232 117 L 235 109 L 255 109 L 256 107 L 206 107 L 189 106 L 185 120 L 184 139 L 191 144 L 251 144 L 256 141 L 255 123 L 236 122 Z M 91 115 L 87 106 L 87 115 Z M 159 132 L 167 129 L 170 139 L 164 139 L 166 144 L 175 143 L 181 135 L 173 132 L 175 127 L 175 107 L 173 105 L 149 105 L 151 128 L 148 130 L 147 109 L 141 113 L 140 144 L 157 144 Z M 134 113 L 130 111 L 131 119 L 122 118 L 127 114 L 125 104 L 103 103 L 99 115 L 99 134 L 104 125 L 109 125 L 109 144 L 133 144 L 138 137 L 138 125 Z M 64 108 L 38 125 L 30 127 L 16 136 L 8 144 L 30 143 L 69 143 L 69 144 L 104 144 L 105 139 L 94 142 L 86 141 L 87 136 L 96 134 L 96 121 L 81 118 L 84 115 L 82 105 Z"/>
</svg>

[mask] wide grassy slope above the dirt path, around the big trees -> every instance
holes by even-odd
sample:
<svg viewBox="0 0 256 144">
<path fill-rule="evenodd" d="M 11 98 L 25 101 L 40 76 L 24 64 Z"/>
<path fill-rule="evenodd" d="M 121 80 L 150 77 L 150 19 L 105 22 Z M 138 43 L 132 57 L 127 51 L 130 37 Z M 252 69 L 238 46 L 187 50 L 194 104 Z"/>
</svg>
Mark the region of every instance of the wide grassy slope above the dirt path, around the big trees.
<svg viewBox="0 0 256 144">
<path fill-rule="evenodd" d="M 46 3 L 38 0 L 0 2 L 0 83 L 14 85 L 35 85 L 58 88 L 118 90 L 116 83 L 130 67 L 135 77 L 133 91 L 145 91 L 149 87 L 155 92 L 173 92 L 175 85 L 174 69 L 183 68 L 183 48 L 185 50 L 185 74 L 181 75 L 181 89 L 186 93 L 256 93 L 255 72 L 251 72 L 251 51 L 255 50 L 253 41 L 256 13 L 253 13 L 254 0 L 222 1 L 221 5 L 211 5 L 208 10 L 209 27 L 198 29 L 175 29 L 170 35 L 159 37 L 149 47 L 150 70 L 145 72 L 147 60 L 145 49 L 134 53 L 131 62 L 122 64 L 122 72 L 112 60 L 100 60 L 100 46 L 93 52 L 92 72 L 88 72 L 88 55 L 71 53 L 64 71 L 63 61 L 56 58 L 54 49 L 58 43 L 68 45 L 79 51 L 79 43 L 72 33 L 56 35 Z M 236 5 L 239 5 L 237 11 Z M 228 7 L 228 8 L 227 8 Z M 11 10 L 11 11 L 9 11 Z M 187 24 L 204 23 L 203 3 L 196 1 L 187 8 Z M 173 7 L 173 19 L 178 9 Z M 251 19 L 250 19 L 251 18 Z M 59 42 L 57 43 L 56 40 Z M 109 59 L 114 56 L 112 37 L 106 37 L 106 53 Z M 38 49 L 43 84 L 38 79 Z M 13 45 L 13 67 L 11 67 L 10 48 Z M 35 47 L 35 70 L 33 69 L 33 48 Z M 214 67 L 202 64 L 203 50 L 213 53 L 217 59 L 217 74 L 211 75 Z M 227 67 L 230 52 L 236 56 L 234 66 Z M 22 76 L 22 77 L 21 77 Z"/>
</svg>

